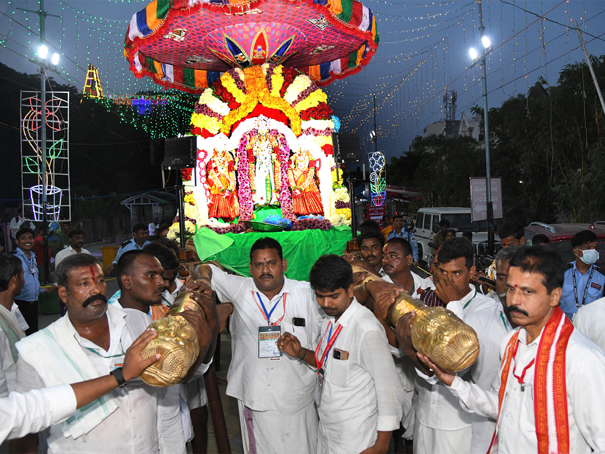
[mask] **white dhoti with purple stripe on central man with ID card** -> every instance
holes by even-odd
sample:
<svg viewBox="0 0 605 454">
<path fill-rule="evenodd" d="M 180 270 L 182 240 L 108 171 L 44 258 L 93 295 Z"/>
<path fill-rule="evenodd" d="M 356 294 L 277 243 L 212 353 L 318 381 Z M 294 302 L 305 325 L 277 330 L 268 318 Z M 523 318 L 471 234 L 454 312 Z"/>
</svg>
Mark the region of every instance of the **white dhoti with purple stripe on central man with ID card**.
<svg viewBox="0 0 605 454">
<path fill-rule="evenodd" d="M 315 405 L 295 415 L 266 410 L 257 412 L 237 401 L 244 454 L 315 452 L 319 419 Z"/>
</svg>

